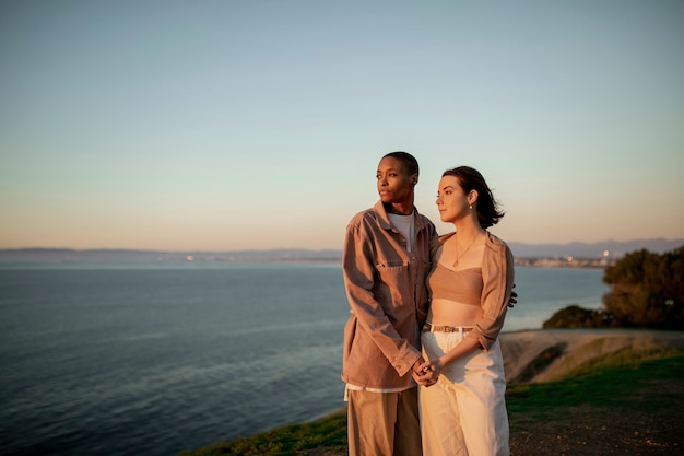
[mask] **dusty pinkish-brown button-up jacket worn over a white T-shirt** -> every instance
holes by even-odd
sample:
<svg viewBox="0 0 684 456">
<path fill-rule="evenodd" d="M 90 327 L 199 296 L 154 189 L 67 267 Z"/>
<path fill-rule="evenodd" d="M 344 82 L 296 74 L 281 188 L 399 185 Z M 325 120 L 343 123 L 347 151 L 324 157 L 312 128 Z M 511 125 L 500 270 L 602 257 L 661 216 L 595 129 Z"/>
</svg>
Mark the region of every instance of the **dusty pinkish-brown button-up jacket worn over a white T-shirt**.
<svg viewBox="0 0 684 456">
<path fill-rule="evenodd" d="M 425 277 L 435 225 L 413 209 L 413 252 L 390 223 L 382 201 L 356 214 L 342 253 L 352 315 L 344 327 L 342 379 L 365 388 L 406 388 L 421 356 L 420 327 L 427 316 Z"/>
</svg>

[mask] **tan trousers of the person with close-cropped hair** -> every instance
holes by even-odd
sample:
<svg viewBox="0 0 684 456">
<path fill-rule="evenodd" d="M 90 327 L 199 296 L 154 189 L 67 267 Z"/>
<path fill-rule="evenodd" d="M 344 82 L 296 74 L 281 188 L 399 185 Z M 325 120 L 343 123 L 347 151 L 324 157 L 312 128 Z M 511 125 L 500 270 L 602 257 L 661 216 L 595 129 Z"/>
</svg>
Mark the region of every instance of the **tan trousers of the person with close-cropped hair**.
<svg viewBox="0 0 684 456">
<path fill-rule="evenodd" d="M 350 389 L 350 456 L 421 456 L 417 389 L 401 393 Z"/>
</svg>

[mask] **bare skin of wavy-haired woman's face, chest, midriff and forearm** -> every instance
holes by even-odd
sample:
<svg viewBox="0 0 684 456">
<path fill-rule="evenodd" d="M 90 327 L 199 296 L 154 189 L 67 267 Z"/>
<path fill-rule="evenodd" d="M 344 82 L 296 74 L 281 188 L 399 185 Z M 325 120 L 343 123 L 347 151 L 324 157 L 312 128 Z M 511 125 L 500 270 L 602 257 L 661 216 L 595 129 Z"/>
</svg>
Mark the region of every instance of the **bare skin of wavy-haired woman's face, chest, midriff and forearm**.
<svg viewBox="0 0 684 456">
<path fill-rule="evenodd" d="M 447 239 L 433 261 L 439 261 L 452 270 L 479 268 L 484 254 L 485 230 L 477 220 L 477 191 L 471 190 L 465 194 L 457 177 L 445 176 L 439 180 L 435 202 L 441 221 L 452 223 L 458 234 Z M 472 209 L 470 209 L 471 206 Z M 448 326 L 474 326 L 481 318 L 480 306 L 444 299 L 435 299 L 431 302 L 427 316 L 427 320 L 433 325 Z M 413 377 L 425 386 L 434 384 L 446 366 L 479 349 L 477 340 L 464 338 L 449 352 L 421 365 L 418 372 L 422 374 L 416 374 L 414 370 Z"/>
</svg>

